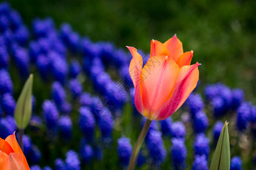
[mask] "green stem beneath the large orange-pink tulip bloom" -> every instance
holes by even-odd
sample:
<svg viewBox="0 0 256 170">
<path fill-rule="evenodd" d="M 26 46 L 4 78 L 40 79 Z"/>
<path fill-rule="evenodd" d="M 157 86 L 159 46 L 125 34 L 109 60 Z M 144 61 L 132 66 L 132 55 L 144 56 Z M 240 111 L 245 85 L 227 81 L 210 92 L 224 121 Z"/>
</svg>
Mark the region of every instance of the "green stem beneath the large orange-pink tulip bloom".
<svg viewBox="0 0 256 170">
<path fill-rule="evenodd" d="M 133 170 L 135 167 L 135 163 L 139 154 L 139 150 L 141 150 L 142 143 L 144 141 L 144 138 L 146 137 L 147 131 L 150 128 L 151 120 L 146 119 L 146 122 L 144 123 L 144 126 L 142 128 L 141 134 L 139 135 L 139 138 L 137 139 L 136 145 L 133 149 L 133 154 L 130 158 L 130 163 L 128 170 Z"/>
</svg>

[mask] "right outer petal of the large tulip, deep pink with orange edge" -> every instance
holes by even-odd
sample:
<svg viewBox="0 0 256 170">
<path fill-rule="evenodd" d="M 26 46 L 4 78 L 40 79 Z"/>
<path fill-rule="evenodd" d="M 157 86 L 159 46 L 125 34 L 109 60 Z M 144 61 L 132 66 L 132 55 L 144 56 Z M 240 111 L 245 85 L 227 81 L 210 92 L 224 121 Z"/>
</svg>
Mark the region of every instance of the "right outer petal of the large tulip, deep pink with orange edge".
<svg viewBox="0 0 256 170">
<path fill-rule="evenodd" d="M 164 120 L 170 117 L 187 100 L 199 80 L 199 70 L 197 68 L 199 65 L 201 64 L 196 63 L 181 67 L 175 82 L 174 94 L 159 108 L 154 120 Z"/>
</svg>

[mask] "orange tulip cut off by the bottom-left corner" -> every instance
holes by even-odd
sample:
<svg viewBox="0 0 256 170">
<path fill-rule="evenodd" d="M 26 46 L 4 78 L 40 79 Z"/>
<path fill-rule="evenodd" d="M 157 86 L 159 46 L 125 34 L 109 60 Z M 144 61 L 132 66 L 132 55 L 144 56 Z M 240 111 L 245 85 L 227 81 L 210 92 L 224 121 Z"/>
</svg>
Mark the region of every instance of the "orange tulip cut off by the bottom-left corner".
<svg viewBox="0 0 256 170">
<path fill-rule="evenodd" d="M 0 169 L 30 169 L 23 152 L 16 141 L 15 132 L 12 135 L 9 135 L 5 140 L 0 138 Z"/>
</svg>

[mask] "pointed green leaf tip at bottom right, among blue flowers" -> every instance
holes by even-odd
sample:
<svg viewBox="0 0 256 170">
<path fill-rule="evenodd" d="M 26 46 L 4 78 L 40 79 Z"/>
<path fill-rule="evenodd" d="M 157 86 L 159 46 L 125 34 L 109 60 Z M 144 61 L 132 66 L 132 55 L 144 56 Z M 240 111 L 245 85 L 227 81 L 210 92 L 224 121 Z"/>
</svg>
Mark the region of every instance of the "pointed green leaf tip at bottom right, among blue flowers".
<svg viewBox="0 0 256 170">
<path fill-rule="evenodd" d="M 228 122 L 225 122 L 216 150 L 214 151 L 210 170 L 228 170 L 230 169 L 230 144 L 229 144 L 229 131 Z"/>
</svg>

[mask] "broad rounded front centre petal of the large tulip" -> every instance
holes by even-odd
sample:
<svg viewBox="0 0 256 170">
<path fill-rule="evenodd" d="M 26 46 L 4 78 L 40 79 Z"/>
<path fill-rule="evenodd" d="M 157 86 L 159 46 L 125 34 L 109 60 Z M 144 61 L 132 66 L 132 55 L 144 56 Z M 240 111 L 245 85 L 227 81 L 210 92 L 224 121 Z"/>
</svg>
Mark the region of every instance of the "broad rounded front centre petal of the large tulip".
<svg viewBox="0 0 256 170">
<path fill-rule="evenodd" d="M 172 58 L 155 56 L 148 59 L 139 84 L 144 116 L 153 118 L 159 107 L 171 97 L 178 73 L 179 66 Z"/>
</svg>

